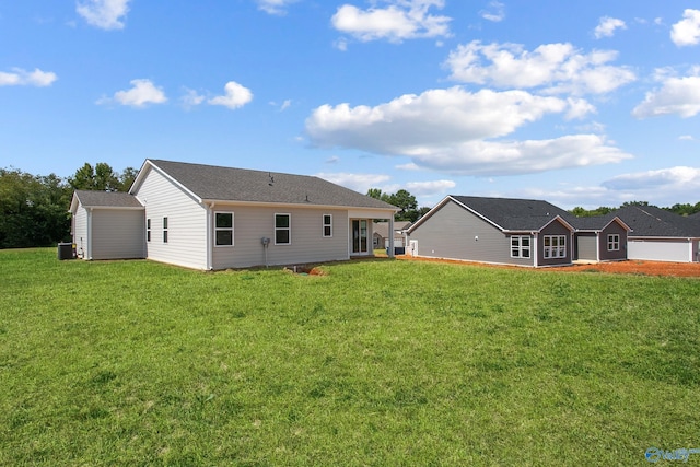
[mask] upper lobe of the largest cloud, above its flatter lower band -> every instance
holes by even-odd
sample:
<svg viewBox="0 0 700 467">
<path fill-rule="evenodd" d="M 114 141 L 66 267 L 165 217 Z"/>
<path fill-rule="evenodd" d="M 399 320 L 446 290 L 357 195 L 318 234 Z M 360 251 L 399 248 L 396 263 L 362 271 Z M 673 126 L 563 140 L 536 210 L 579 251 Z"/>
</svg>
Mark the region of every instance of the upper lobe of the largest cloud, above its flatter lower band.
<svg viewBox="0 0 700 467">
<path fill-rule="evenodd" d="M 306 131 L 318 145 L 415 154 L 434 144 L 505 136 L 565 109 L 565 101 L 525 91 L 470 93 L 454 86 L 406 94 L 376 107 L 323 105 L 306 120 Z"/>
</svg>

